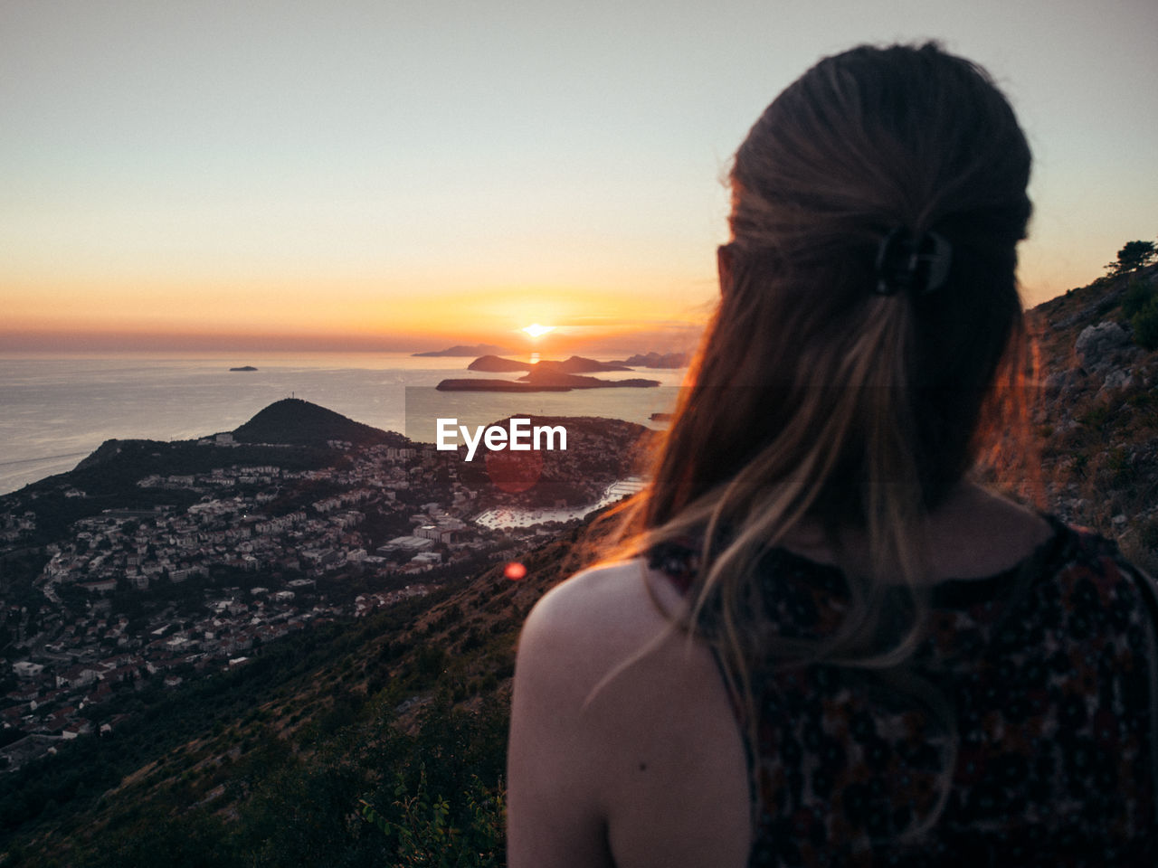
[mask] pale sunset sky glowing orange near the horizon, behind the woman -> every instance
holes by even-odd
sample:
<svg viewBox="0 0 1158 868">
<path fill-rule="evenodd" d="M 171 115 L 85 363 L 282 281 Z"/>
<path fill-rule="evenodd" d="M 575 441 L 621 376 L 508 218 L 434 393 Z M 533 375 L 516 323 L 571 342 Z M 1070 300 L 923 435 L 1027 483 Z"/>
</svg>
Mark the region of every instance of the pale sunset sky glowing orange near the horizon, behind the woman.
<svg viewBox="0 0 1158 868">
<path fill-rule="evenodd" d="M 1028 303 L 1155 238 L 1153 0 L 0 0 L 0 354 L 687 341 L 763 106 L 929 37 L 1034 148 Z"/>
</svg>

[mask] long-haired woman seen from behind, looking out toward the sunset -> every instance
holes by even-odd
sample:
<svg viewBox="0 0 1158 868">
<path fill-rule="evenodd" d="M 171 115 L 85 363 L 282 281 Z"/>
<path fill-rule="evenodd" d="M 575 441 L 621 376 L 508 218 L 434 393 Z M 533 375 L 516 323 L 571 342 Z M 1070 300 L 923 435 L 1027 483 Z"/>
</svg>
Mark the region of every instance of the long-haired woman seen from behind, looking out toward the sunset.
<svg viewBox="0 0 1158 868">
<path fill-rule="evenodd" d="M 932 44 L 756 122 L 651 486 L 520 640 L 513 868 L 1158 863 L 1148 580 L 970 481 L 1018 415 L 1028 174 Z"/>
</svg>

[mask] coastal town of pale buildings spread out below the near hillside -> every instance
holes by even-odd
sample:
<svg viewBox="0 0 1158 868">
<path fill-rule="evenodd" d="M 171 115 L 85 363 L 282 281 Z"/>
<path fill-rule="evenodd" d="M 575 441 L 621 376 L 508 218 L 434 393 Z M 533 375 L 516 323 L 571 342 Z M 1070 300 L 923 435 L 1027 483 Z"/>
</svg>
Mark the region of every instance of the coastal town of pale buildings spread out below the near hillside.
<svg viewBox="0 0 1158 868">
<path fill-rule="evenodd" d="M 329 439 L 314 448 L 328 466 L 277 461 L 279 449 L 299 451 L 284 443 L 262 444 L 274 456 L 264 463 L 241 463 L 252 444 L 223 433 L 183 444 L 208 458 L 201 471 L 149 453 L 173 472 L 140 476 L 138 496 L 112 507 L 85 509 L 95 498 L 75 475 L 0 498 L 0 767 L 115 729 L 118 694 L 243 667 L 296 631 L 518 560 L 638 490 L 639 426 L 565 421 L 565 451 L 513 469 L 512 454 L 489 453 L 490 472 L 467 464 L 464 448 L 401 435 Z M 47 538 L 49 501 L 85 515 Z"/>
</svg>

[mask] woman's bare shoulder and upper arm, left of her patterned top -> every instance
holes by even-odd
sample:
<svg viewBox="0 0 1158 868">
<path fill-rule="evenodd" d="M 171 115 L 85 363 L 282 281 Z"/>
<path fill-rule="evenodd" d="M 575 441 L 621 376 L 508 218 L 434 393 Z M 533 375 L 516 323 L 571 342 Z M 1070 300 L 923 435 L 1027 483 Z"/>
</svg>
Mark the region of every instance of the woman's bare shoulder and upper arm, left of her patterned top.
<svg viewBox="0 0 1158 868">
<path fill-rule="evenodd" d="M 743 746 L 710 650 L 665 615 L 681 604 L 632 560 L 579 573 L 528 616 L 508 750 L 513 868 L 742 865 Z M 735 860 L 719 861 L 728 846 Z"/>
</svg>

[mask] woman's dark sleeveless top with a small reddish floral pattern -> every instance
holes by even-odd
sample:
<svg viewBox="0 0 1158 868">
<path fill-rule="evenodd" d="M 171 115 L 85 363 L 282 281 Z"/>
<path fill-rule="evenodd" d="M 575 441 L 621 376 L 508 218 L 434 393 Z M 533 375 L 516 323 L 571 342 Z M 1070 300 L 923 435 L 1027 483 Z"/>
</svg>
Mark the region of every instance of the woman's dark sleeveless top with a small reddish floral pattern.
<svg viewBox="0 0 1158 868">
<path fill-rule="evenodd" d="M 1048 518 L 1018 567 L 935 588 L 908 665 L 932 704 L 882 674 L 756 664 L 750 867 L 1158 866 L 1153 588 Z M 696 559 L 650 552 L 686 594 Z M 840 569 L 784 550 L 760 581 L 785 638 L 823 637 L 848 601 Z"/>
</svg>

